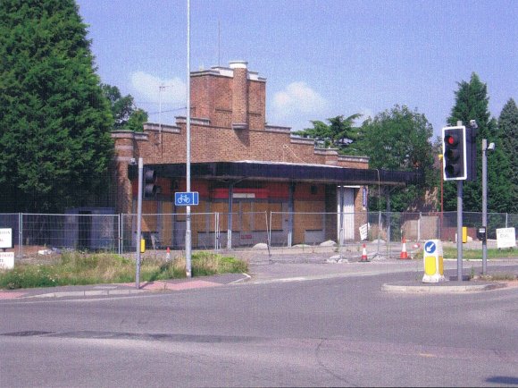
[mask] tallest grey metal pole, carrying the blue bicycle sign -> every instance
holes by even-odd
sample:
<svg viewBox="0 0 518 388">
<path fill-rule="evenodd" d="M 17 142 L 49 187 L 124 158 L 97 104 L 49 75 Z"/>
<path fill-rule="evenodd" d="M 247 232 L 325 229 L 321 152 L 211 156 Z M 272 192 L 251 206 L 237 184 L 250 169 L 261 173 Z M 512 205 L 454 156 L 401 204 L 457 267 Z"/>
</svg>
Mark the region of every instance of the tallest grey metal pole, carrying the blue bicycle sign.
<svg viewBox="0 0 518 388">
<path fill-rule="evenodd" d="M 187 0 L 187 161 L 186 179 L 187 192 L 190 192 L 190 1 Z M 185 273 L 192 277 L 191 271 L 191 233 L 190 233 L 190 207 L 186 209 L 185 222 Z"/>
</svg>

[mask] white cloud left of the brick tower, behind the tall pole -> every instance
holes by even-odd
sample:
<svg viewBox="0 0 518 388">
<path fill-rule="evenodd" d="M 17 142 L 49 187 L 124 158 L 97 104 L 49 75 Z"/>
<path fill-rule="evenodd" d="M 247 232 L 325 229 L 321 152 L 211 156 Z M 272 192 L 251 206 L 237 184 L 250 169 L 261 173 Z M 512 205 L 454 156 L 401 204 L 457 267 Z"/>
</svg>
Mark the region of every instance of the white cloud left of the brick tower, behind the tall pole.
<svg viewBox="0 0 518 388">
<path fill-rule="evenodd" d="M 160 92 L 160 86 L 164 86 Z M 186 105 L 187 88 L 183 80 L 173 78 L 163 80 L 146 72 L 134 72 L 131 74 L 131 87 L 135 90 L 136 99 L 143 99 L 146 103 L 183 106 Z"/>
</svg>

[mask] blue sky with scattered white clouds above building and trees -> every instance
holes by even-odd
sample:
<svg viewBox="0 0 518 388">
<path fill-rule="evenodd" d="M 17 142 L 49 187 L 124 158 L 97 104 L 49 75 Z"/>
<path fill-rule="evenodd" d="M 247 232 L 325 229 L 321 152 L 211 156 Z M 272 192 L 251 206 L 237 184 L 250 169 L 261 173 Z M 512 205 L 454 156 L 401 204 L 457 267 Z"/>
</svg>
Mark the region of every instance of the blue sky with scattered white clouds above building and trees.
<svg viewBox="0 0 518 388">
<path fill-rule="evenodd" d="M 76 2 L 101 81 L 150 122 L 185 116 L 188 0 Z M 190 69 L 246 61 L 267 80 L 269 125 L 406 105 L 439 135 L 472 72 L 494 117 L 518 101 L 517 21 L 515 0 L 190 0 Z"/>
</svg>

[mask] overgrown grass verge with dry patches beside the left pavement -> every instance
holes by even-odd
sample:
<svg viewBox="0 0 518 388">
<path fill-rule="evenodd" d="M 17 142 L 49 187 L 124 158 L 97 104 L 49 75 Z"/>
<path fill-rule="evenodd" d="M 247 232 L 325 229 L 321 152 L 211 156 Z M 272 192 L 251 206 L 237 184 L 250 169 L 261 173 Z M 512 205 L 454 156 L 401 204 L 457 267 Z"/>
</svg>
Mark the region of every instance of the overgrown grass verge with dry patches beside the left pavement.
<svg viewBox="0 0 518 388">
<path fill-rule="evenodd" d="M 245 261 L 211 252 L 192 255 L 193 276 L 243 273 Z M 65 252 L 52 264 L 16 264 L 13 270 L 0 270 L 0 289 L 54 287 L 135 281 L 135 260 L 110 253 Z M 146 258 L 141 261 L 140 280 L 153 282 L 185 277 L 185 257 L 172 261 Z"/>
</svg>

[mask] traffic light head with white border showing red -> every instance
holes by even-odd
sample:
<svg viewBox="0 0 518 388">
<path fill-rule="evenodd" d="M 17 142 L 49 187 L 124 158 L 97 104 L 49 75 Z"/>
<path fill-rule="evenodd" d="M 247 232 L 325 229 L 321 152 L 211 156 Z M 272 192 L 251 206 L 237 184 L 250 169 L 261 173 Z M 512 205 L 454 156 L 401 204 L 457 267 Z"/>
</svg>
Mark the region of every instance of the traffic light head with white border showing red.
<svg viewBox="0 0 518 388">
<path fill-rule="evenodd" d="M 442 129 L 443 173 L 445 181 L 464 181 L 467 178 L 466 127 Z"/>
</svg>

